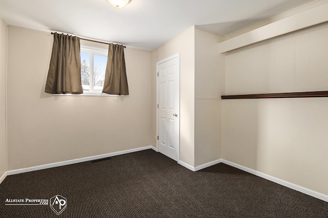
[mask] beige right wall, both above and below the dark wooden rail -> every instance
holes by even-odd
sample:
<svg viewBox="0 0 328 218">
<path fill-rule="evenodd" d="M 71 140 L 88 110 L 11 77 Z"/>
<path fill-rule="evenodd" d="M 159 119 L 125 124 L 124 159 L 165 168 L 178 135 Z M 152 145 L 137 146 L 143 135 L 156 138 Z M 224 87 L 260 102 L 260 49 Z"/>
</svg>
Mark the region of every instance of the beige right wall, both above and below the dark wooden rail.
<svg viewBox="0 0 328 218">
<path fill-rule="evenodd" d="M 226 56 L 226 94 L 328 90 L 328 23 Z M 222 158 L 328 195 L 328 98 L 225 100 Z"/>
</svg>

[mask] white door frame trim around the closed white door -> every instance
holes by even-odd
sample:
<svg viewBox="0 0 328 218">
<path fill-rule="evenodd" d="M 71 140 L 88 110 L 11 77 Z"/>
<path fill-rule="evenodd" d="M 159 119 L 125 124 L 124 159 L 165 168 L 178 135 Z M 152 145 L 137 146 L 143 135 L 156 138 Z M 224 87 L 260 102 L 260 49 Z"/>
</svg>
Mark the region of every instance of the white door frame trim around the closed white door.
<svg viewBox="0 0 328 218">
<path fill-rule="evenodd" d="M 159 96 L 158 96 L 158 65 L 159 64 L 161 64 L 161 63 L 164 63 L 164 62 L 166 62 L 166 61 L 169 61 L 169 60 L 171 60 L 171 59 L 174 59 L 174 58 L 178 58 L 178 69 L 179 69 L 179 71 L 178 71 L 178 74 L 179 74 L 179 76 L 178 76 L 178 84 L 179 84 L 179 96 L 178 96 L 178 99 L 179 99 L 179 106 L 178 106 L 178 114 L 179 114 L 179 116 L 178 116 L 178 122 L 179 122 L 179 131 L 178 131 L 178 145 L 177 145 L 177 147 L 178 148 L 176 148 L 176 151 L 177 151 L 177 162 L 179 163 L 180 162 L 180 53 L 177 53 L 177 54 L 175 54 L 175 55 L 172 55 L 172 56 L 170 56 L 170 57 L 168 57 L 168 58 L 165 58 L 165 59 L 163 59 L 163 60 L 160 60 L 160 61 L 157 61 L 156 62 L 156 150 L 157 150 L 157 152 L 159 152 L 159 148 L 158 148 L 158 100 L 159 100 Z"/>
</svg>

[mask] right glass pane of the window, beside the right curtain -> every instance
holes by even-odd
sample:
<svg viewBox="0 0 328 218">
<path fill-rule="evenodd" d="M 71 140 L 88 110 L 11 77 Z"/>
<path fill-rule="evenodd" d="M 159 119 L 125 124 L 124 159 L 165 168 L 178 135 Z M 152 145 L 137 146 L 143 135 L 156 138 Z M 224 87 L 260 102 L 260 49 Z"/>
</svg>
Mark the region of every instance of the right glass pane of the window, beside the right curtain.
<svg viewBox="0 0 328 218">
<path fill-rule="evenodd" d="M 94 55 L 93 56 L 93 75 L 95 90 L 103 90 L 105 82 L 105 70 L 107 65 L 107 56 Z"/>
</svg>

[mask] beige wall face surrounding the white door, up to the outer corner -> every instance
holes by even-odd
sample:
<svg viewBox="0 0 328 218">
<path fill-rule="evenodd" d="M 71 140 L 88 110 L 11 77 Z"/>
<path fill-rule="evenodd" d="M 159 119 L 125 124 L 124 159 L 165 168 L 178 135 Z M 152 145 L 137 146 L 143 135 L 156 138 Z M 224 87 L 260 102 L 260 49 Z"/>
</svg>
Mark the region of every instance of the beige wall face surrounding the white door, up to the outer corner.
<svg viewBox="0 0 328 218">
<path fill-rule="evenodd" d="M 156 62 L 180 53 L 180 160 L 194 166 L 195 29 L 175 37 L 152 52 L 152 135 L 156 147 Z"/>
</svg>

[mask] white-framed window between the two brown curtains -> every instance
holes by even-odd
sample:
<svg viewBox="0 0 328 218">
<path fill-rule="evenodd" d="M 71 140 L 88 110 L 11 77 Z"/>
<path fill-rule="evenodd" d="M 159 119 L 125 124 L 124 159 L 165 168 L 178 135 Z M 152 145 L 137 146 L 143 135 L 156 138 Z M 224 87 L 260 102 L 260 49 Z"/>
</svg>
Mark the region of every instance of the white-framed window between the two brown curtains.
<svg viewBox="0 0 328 218">
<path fill-rule="evenodd" d="M 108 50 L 81 45 L 81 82 L 84 93 L 101 93 Z"/>
</svg>

